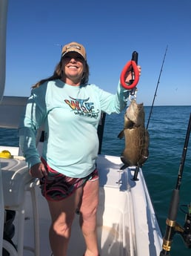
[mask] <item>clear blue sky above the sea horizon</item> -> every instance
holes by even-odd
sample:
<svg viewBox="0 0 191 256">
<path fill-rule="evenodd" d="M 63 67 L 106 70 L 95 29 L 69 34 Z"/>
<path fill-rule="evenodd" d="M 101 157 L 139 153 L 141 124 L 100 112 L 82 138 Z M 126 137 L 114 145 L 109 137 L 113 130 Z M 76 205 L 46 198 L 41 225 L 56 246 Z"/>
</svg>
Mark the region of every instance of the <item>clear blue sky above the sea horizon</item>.
<svg viewBox="0 0 191 256">
<path fill-rule="evenodd" d="M 158 85 L 154 105 L 191 105 L 190 0 L 9 0 L 4 95 L 30 96 L 69 42 L 84 45 L 89 82 L 104 91 L 116 92 L 136 50 L 137 102 L 152 105 Z"/>
</svg>

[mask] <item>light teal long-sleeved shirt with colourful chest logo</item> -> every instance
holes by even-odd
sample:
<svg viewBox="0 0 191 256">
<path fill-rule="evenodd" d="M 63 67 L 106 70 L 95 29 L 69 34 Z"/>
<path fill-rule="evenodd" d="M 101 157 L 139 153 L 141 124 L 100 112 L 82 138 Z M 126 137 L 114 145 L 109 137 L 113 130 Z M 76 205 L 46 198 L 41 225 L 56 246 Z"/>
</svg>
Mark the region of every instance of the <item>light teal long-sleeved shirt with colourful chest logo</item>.
<svg viewBox="0 0 191 256">
<path fill-rule="evenodd" d="M 86 177 L 96 168 L 101 111 L 120 113 L 128 96 L 120 83 L 115 94 L 92 84 L 67 85 L 60 79 L 33 89 L 19 126 L 20 146 L 29 168 L 41 162 L 36 131 L 43 125 L 42 157 L 47 164 L 68 177 Z"/>
</svg>

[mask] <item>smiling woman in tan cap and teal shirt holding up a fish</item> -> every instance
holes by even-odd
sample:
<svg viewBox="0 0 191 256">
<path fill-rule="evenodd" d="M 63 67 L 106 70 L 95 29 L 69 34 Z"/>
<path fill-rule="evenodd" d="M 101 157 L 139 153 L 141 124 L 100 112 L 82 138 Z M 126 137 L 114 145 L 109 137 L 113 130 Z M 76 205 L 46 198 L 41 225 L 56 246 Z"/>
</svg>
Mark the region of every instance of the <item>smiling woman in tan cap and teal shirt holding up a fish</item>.
<svg viewBox="0 0 191 256">
<path fill-rule="evenodd" d="M 141 73 L 141 68 L 138 67 Z M 118 85 L 115 95 L 88 84 L 89 67 L 83 45 L 64 45 L 53 76 L 33 86 L 19 128 L 20 145 L 32 177 L 40 179 L 52 224 L 50 246 L 54 256 L 67 255 L 76 209 L 87 246 L 85 256 L 98 256 L 97 128 L 101 111 L 120 113 L 129 93 Z M 131 79 L 127 73 L 126 81 Z M 41 158 L 36 131 L 44 125 Z"/>
</svg>

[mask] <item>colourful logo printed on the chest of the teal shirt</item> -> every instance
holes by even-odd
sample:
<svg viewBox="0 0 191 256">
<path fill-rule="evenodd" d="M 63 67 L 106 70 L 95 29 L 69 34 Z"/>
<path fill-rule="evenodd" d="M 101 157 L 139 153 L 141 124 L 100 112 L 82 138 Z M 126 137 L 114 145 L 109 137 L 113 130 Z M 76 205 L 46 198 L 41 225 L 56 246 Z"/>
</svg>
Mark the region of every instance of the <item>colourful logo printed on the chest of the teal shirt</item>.
<svg viewBox="0 0 191 256">
<path fill-rule="evenodd" d="M 70 100 L 64 99 L 64 102 L 70 106 L 76 115 L 90 116 L 97 119 L 99 110 L 95 111 L 94 103 L 88 102 L 89 99 L 90 97 L 87 99 L 75 99 L 70 96 Z"/>
</svg>

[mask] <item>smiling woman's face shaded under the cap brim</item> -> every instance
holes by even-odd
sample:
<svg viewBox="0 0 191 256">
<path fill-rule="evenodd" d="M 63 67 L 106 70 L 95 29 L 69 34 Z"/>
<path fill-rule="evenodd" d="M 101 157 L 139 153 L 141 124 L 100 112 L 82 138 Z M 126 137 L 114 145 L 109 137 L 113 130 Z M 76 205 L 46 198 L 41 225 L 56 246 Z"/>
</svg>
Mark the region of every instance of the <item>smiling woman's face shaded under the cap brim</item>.
<svg viewBox="0 0 191 256">
<path fill-rule="evenodd" d="M 62 81 L 68 85 L 80 85 L 84 73 L 84 58 L 76 52 L 67 53 L 62 59 Z"/>
</svg>

